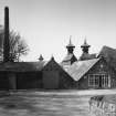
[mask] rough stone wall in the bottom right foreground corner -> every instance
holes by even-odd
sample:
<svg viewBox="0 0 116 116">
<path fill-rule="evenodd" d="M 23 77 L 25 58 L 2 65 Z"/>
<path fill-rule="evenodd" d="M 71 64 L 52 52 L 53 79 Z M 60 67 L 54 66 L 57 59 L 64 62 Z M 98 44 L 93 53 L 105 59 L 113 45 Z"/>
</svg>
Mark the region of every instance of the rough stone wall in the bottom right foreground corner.
<svg viewBox="0 0 116 116">
<path fill-rule="evenodd" d="M 112 99 L 107 99 L 106 97 L 107 96 L 91 97 L 89 99 L 91 116 L 116 116 L 116 103 L 109 102 Z M 116 97 L 114 98 L 116 99 Z"/>
</svg>

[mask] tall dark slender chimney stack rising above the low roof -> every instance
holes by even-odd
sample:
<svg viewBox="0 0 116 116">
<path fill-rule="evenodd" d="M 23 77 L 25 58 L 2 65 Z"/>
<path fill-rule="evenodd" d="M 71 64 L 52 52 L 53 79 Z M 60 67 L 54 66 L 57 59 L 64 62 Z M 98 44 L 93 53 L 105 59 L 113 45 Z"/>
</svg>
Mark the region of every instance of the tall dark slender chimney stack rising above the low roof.
<svg viewBox="0 0 116 116">
<path fill-rule="evenodd" d="M 3 62 L 10 61 L 10 43 L 9 43 L 9 8 L 4 8 L 4 40 L 3 40 Z"/>
</svg>

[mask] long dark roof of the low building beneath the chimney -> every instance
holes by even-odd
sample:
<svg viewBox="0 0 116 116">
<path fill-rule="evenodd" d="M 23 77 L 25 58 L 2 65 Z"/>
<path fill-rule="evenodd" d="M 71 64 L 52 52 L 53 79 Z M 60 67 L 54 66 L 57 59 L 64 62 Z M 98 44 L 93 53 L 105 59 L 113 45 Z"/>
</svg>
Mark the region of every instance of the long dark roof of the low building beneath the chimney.
<svg viewBox="0 0 116 116">
<path fill-rule="evenodd" d="M 7 62 L 0 63 L 0 71 L 31 72 L 41 71 L 46 62 Z"/>
</svg>

